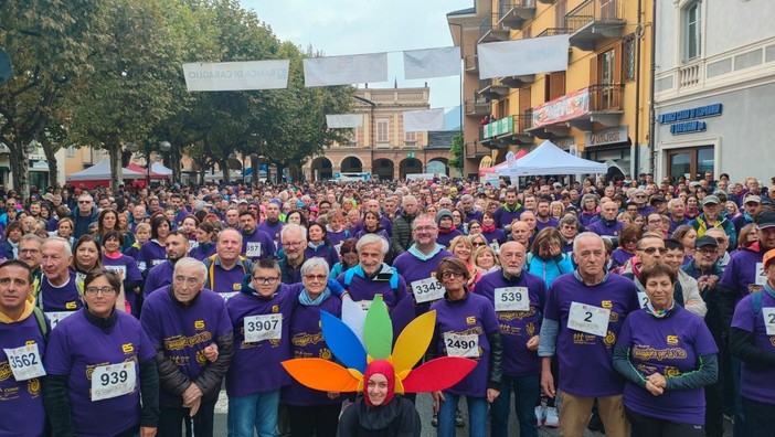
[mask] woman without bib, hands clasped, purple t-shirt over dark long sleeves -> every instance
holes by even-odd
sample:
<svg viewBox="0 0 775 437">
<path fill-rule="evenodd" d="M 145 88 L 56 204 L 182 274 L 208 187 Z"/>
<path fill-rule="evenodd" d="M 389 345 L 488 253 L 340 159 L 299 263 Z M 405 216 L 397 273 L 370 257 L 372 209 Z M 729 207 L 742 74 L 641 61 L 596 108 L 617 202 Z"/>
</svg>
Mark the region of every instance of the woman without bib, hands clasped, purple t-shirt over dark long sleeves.
<svg viewBox="0 0 775 437">
<path fill-rule="evenodd" d="M 716 380 L 719 349 L 702 318 L 673 301 L 675 269 L 655 260 L 640 275 L 648 302 L 627 316 L 613 359 L 633 436 L 704 436 L 703 387 Z"/>
</svg>

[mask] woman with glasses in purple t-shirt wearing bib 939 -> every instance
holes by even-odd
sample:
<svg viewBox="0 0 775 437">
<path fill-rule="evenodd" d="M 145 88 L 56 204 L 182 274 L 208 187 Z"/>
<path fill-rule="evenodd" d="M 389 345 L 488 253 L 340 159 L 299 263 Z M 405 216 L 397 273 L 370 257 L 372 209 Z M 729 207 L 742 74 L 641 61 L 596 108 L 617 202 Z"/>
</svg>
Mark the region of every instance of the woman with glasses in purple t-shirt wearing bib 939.
<svg viewBox="0 0 775 437">
<path fill-rule="evenodd" d="M 156 350 L 137 319 L 116 311 L 120 287 L 113 271 L 89 271 L 85 308 L 51 331 L 43 397 L 54 435 L 156 434 Z"/>
</svg>

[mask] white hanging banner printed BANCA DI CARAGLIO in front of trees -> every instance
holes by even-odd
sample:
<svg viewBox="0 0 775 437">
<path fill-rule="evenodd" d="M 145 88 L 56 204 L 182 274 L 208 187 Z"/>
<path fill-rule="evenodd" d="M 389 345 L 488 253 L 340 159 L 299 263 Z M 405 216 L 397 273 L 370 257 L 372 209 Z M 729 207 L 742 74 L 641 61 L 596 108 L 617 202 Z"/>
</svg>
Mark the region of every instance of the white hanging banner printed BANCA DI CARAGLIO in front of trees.
<svg viewBox="0 0 775 437">
<path fill-rule="evenodd" d="M 282 89 L 288 87 L 290 61 L 197 62 L 183 64 L 185 86 L 192 90 Z"/>
</svg>

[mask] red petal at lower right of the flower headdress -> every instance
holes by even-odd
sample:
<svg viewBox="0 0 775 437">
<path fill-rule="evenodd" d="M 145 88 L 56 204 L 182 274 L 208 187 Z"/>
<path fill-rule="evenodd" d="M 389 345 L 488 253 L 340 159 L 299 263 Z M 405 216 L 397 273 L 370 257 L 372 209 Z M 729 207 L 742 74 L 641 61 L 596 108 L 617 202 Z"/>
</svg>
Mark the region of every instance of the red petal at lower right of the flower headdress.
<svg viewBox="0 0 775 437">
<path fill-rule="evenodd" d="M 406 393 L 431 393 L 447 390 L 463 381 L 477 362 L 459 356 L 431 360 L 413 370 L 403 381 Z"/>
</svg>

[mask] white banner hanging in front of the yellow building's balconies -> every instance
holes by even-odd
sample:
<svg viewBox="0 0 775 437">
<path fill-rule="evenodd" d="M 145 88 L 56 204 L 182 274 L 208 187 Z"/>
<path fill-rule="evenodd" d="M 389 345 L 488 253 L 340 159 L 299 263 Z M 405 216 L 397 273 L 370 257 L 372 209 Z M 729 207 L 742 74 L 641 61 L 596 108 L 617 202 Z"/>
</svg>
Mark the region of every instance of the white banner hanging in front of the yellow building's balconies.
<svg viewBox="0 0 775 437">
<path fill-rule="evenodd" d="M 570 46 L 569 35 L 479 44 L 479 78 L 565 71 Z"/>
</svg>

